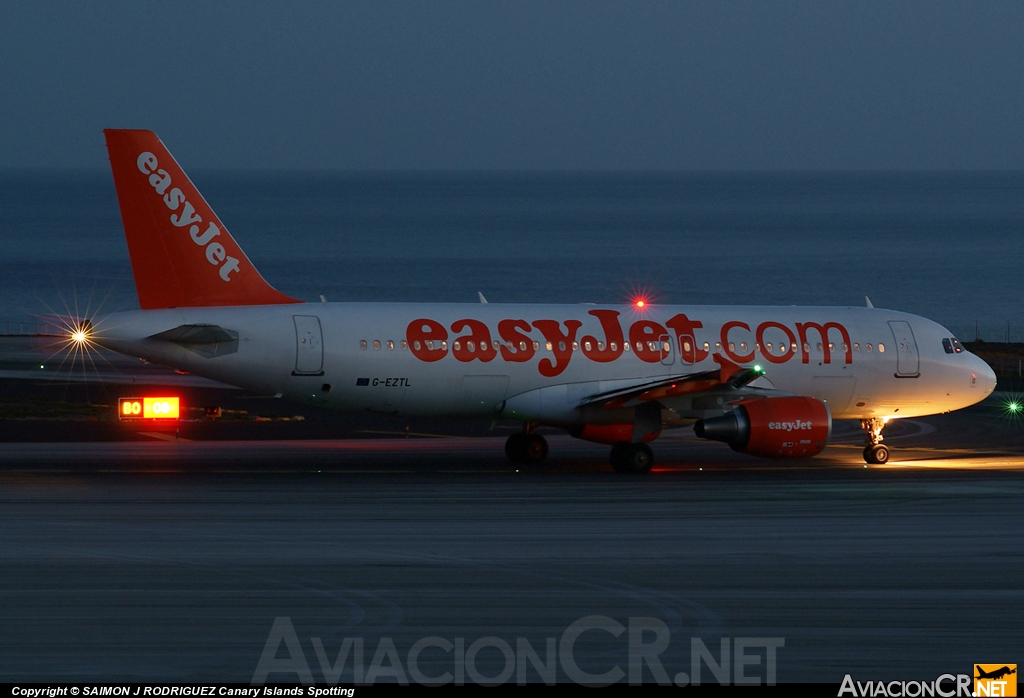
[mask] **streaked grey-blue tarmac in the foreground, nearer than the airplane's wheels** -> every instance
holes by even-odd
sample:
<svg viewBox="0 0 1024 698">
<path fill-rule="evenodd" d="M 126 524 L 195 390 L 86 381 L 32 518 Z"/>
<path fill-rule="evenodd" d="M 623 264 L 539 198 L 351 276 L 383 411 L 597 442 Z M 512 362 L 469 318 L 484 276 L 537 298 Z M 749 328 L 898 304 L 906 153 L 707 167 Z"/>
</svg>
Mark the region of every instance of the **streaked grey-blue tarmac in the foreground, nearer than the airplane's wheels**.
<svg viewBox="0 0 1024 698">
<path fill-rule="evenodd" d="M 543 659 L 593 615 L 664 623 L 670 677 L 691 673 L 691 638 L 719 659 L 722 638 L 784 642 L 781 682 L 934 679 L 1024 647 L 1019 471 L 623 478 L 480 468 L 489 457 L 457 453 L 458 473 L 403 452 L 379 473 L 2 475 L 0 679 L 248 682 L 279 617 L 317 681 L 313 638 L 328 667 L 345 638 L 366 665 L 390 639 L 408 669 L 428 637 L 525 639 Z M 765 651 L 748 654 L 766 679 Z M 629 635 L 591 629 L 570 656 L 625 670 Z M 484 675 L 505 664 L 500 648 L 476 656 Z M 456 669 L 442 648 L 418 666 Z"/>
</svg>

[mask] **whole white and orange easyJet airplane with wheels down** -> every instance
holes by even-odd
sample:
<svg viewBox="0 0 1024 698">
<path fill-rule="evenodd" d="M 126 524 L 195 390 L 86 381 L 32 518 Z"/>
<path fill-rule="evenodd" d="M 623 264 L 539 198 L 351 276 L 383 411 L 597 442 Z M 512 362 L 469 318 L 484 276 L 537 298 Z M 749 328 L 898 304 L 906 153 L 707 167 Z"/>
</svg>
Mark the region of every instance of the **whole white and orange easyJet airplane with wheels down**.
<svg viewBox="0 0 1024 698">
<path fill-rule="evenodd" d="M 764 457 L 806 457 L 859 420 L 885 463 L 891 419 L 975 404 L 995 376 L 935 322 L 879 308 L 304 303 L 271 288 L 150 131 L 108 130 L 140 310 L 90 341 L 248 390 L 338 409 L 505 418 L 508 456 L 540 425 L 645 472 L 667 426 Z"/>
</svg>

